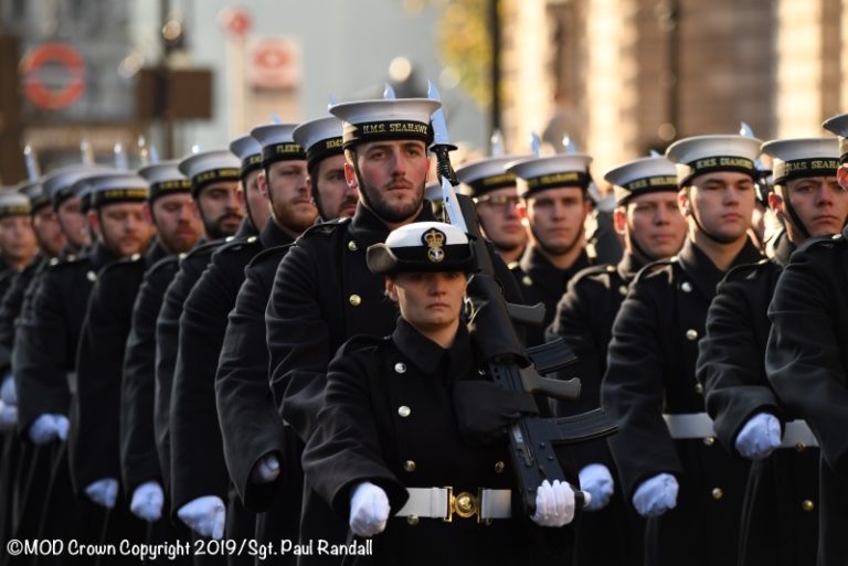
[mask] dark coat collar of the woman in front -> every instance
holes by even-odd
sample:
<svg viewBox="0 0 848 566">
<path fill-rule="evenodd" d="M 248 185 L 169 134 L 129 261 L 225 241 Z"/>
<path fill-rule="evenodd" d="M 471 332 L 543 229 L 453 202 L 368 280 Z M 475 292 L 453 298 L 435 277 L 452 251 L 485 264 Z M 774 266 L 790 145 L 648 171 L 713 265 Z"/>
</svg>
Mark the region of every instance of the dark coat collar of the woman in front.
<svg viewBox="0 0 848 566">
<path fill-rule="evenodd" d="M 456 339 L 448 349 L 439 346 L 401 318 L 398 319 L 392 340 L 410 362 L 425 375 L 435 373 L 439 364 L 444 364 L 446 378 L 462 378 L 474 364 L 471 341 L 468 329 L 463 323 L 459 324 Z"/>
</svg>

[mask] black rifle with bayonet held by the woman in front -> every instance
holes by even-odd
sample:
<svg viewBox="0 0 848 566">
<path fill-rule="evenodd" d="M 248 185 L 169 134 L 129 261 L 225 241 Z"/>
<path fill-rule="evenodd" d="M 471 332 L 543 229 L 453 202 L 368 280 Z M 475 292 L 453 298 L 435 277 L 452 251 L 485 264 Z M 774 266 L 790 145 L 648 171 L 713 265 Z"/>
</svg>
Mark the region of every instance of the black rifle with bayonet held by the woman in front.
<svg viewBox="0 0 848 566">
<path fill-rule="evenodd" d="M 438 99 L 438 93 L 432 84 L 427 96 Z M 544 307 L 540 303 L 519 308 L 505 300 L 500 285 L 495 279 L 491 256 L 480 234 L 474 203 L 468 196 L 457 195 L 454 191 L 458 181 L 451 167 L 449 151 L 455 147 L 448 141 L 441 108 L 433 114 L 432 124 L 434 145 L 431 149 L 437 159 L 436 171 L 442 182 L 446 222 L 462 227 L 473 237 L 480 268 L 468 282 L 468 297 L 475 305 L 469 330 L 492 382 L 508 392 L 576 399 L 580 396 L 579 378 L 559 381 L 542 376 L 576 360 L 562 339 L 532 349 L 524 349 L 518 339 L 513 320 L 541 322 Z M 554 453 L 555 446 L 602 438 L 615 430 L 615 424 L 601 408 L 561 418 L 522 414 L 509 425 L 510 460 L 528 515 L 536 513 L 536 490 L 543 480 L 565 481 L 565 473 Z M 575 490 L 575 499 L 580 506 L 587 503 L 582 491 Z"/>
</svg>

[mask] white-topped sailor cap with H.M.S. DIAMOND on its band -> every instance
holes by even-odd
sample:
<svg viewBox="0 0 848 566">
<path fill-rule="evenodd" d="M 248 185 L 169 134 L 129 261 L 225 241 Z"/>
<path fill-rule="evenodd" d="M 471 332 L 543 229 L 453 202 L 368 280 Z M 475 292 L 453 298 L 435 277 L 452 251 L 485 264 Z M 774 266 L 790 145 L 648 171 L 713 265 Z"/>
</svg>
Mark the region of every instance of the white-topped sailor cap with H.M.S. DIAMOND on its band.
<svg viewBox="0 0 848 566">
<path fill-rule="evenodd" d="M 755 180 L 754 162 L 760 157 L 762 142 L 748 136 L 695 136 L 671 143 L 666 157 L 677 163 L 678 186 L 686 186 L 692 178 L 716 171 L 745 173 Z"/>
</svg>

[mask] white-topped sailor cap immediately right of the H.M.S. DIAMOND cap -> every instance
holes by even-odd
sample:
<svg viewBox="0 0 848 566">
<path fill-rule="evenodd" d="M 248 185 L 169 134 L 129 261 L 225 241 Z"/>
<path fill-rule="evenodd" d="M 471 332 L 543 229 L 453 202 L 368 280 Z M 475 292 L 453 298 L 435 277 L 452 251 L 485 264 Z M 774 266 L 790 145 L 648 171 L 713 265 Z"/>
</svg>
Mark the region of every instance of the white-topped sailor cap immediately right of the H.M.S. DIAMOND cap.
<svg viewBox="0 0 848 566">
<path fill-rule="evenodd" d="M 804 177 L 834 177 L 839 169 L 836 138 L 777 139 L 763 143 L 762 151 L 772 158 L 774 184 Z"/>
</svg>

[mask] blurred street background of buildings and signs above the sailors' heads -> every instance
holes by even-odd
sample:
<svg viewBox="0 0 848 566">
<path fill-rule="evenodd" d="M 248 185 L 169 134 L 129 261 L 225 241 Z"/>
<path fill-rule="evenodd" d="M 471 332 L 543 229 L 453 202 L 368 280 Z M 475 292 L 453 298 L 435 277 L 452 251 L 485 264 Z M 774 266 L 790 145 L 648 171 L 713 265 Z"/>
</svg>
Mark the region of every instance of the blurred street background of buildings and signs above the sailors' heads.
<svg viewBox="0 0 848 566">
<path fill-rule="evenodd" d="M 0 0 L 0 179 L 224 147 L 327 104 L 441 89 L 452 138 L 569 137 L 596 177 L 698 134 L 848 110 L 848 0 Z M 10 88 L 9 85 L 17 85 Z"/>
</svg>

